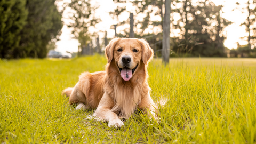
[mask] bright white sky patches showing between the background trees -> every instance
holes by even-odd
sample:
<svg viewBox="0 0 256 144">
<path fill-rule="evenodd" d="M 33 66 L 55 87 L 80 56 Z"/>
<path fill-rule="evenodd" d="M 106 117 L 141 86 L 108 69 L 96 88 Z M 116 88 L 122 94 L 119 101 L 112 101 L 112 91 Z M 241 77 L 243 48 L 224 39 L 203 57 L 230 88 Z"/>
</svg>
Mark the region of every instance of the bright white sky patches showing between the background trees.
<svg viewBox="0 0 256 144">
<path fill-rule="evenodd" d="M 101 18 L 101 22 L 96 25 L 96 28 L 89 29 L 90 31 L 98 31 L 100 40 L 105 36 L 105 30 L 107 30 L 107 37 L 108 38 L 114 38 L 115 31 L 114 29 L 110 29 L 111 25 L 116 24 L 116 21 L 112 20 L 109 12 L 114 10 L 116 8 L 116 5 L 114 4 L 113 0 L 96 0 L 100 7 L 97 10 L 97 15 Z M 129 1 L 129 0 L 127 0 Z M 246 33 L 245 27 L 240 26 L 241 23 L 243 23 L 247 17 L 248 12 L 244 11 L 243 13 L 239 10 L 233 11 L 233 9 L 236 7 L 236 2 L 241 3 L 241 7 L 246 6 L 247 0 L 212 0 L 216 5 L 224 5 L 222 11 L 222 17 L 233 22 L 231 25 L 226 27 L 224 34 L 227 35 L 227 39 L 224 42 L 224 45 L 227 46 L 229 49 L 237 48 L 237 42 L 239 42 L 240 45 L 247 44 L 246 39 L 242 40 L 240 37 L 248 36 L 248 33 Z M 252 1 L 252 0 L 250 0 Z M 133 11 L 132 5 L 128 4 L 126 5 L 127 11 Z M 65 14 L 63 14 L 63 17 L 65 17 Z M 119 17 L 119 20 L 127 20 L 130 16 L 130 13 L 124 13 Z M 174 15 L 175 17 L 175 15 Z M 174 18 L 174 20 L 177 18 Z M 127 25 L 126 27 L 129 27 Z M 117 33 L 121 30 L 121 27 L 117 27 Z M 179 31 L 172 31 L 173 34 L 177 33 Z M 58 51 L 69 51 L 69 52 L 77 52 L 78 50 L 78 41 L 76 39 L 72 39 L 70 37 L 70 30 L 67 28 L 67 26 L 63 26 L 62 28 L 62 34 L 60 36 L 60 41 L 56 43 L 57 50 Z"/>
</svg>

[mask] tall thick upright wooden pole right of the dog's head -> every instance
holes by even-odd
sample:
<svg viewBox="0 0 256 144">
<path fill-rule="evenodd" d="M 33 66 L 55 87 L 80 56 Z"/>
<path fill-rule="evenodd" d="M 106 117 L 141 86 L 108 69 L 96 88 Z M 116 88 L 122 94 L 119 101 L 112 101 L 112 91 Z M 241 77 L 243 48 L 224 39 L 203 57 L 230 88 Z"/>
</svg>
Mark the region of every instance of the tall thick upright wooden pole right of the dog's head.
<svg viewBox="0 0 256 144">
<path fill-rule="evenodd" d="M 170 55 L 170 23 L 171 23 L 171 0 L 165 0 L 165 13 L 163 22 L 163 62 L 166 65 L 169 63 Z"/>
</svg>

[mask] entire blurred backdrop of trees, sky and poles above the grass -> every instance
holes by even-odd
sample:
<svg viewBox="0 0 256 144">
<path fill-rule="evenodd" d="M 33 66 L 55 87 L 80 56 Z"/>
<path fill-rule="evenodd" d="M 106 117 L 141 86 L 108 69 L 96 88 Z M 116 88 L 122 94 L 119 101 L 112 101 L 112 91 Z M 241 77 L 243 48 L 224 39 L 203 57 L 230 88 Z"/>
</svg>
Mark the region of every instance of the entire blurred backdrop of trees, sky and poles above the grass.
<svg viewBox="0 0 256 144">
<path fill-rule="evenodd" d="M 103 54 L 114 37 L 155 57 L 256 57 L 256 0 L 2 0 L 0 13 L 1 59 Z"/>
</svg>

